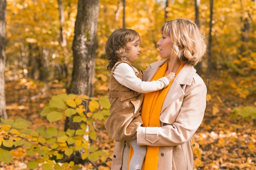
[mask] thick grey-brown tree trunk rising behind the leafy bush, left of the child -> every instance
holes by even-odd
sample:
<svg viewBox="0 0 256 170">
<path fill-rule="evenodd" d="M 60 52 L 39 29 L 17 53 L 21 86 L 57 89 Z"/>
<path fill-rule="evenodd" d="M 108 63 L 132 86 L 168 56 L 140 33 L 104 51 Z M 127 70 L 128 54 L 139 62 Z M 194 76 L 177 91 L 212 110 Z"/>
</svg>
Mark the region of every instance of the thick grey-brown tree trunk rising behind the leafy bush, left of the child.
<svg viewBox="0 0 256 170">
<path fill-rule="evenodd" d="M 97 19 L 99 0 L 79 0 L 74 28 L 73 40 L 73 70 L 70 93 L 93 96 L 93 80 L 97 49 Z M 85 109 L 88 110 L 88 103 Z M 80 123 L 73 123 L 72 117 L 66 118 L 65 130 L 80 129 Z M 79 153 L 78 153 L 79 154 Z M 76 153 L 76 157 L 79 155 Z M 74 158 L 73 161 L 79 160 Z M 81 158 L 81 157 L 80 157 Z M 81 159 L 80 159 L 81 161 Z"/>
</svg>

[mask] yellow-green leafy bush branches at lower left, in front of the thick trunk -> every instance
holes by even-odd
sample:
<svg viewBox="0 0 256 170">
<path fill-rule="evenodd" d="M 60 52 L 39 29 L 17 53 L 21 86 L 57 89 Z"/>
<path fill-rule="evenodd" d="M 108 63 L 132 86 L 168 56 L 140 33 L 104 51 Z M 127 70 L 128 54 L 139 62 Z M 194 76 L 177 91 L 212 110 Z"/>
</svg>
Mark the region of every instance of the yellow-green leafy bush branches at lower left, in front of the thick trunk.
<svg viewBox="0 0 256 170">
<path fill-rule="evenodd" d="M 84 108 L 88 104 L 88 112 Z M 60 94 L 53 96 L 40 115 L 46 116 L 50 122 L 65 117 L 72 117 L 73 122 L 79 122 L 81 128 L 58 131 L 55 127 L 29 128 L 31 122 L 24 119 L 1 119 L 0 122 L 0 161 L 10 163 L 13 158 L 9 150 L 16 147 L 26 147 L 28 155 L 40 155 L 40 159 L 29 161 L 28 169 L 41 167 L 43 170 L 76 170 L 78 165 L 73 161 L 57 163 L 63 157 L 81 151 L 81 159 L 96 161 L 108 155 L 91 145 L 84 136 L 96 139 L 97 133 L 91 124 L 97 119 L 102 120 L 109 115 L 110 103 L 108 97 L 101 99 L 86 95 Z M 88 130 L 89 128 L 89 130 Z M 53 159 L 55 158 L 55 160 Z"/>
</svg>

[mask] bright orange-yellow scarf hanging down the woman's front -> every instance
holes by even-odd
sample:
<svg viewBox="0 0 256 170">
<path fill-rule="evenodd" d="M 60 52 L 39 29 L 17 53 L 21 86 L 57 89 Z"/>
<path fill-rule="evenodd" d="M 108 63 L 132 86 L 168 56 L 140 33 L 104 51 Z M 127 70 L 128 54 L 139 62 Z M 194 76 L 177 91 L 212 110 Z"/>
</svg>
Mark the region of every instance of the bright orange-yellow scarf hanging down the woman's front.
<svg viewBox="0 0 256 170">
<path fill-rule="evenodd" d="M 164 77 L 167 66 L 168 66 L 168 60 L 159 68 L 159 70 L 157 71 L 157 73 L 155 74 L 155 76 L 151 81 Z M 179 71 L 183 66 L 184 66 L 184 63 L 180 65 L 180 68 L 178 69 L 176 75 L 179 73 Z M 160 127 L 160 120 L 159 120 L 160 112 L 162 109 L 165 96 L 169 88 L 171 87 L 172 82 L 173 80 L 166 88 L 160 91 L 153 91 L 153 92 L 144 94 L 144 101 L 141 109 L 141 118 L 143 121 L 142 126 Z M 147 146 L 146 158 L 143 163 L 142 170 L 157 170 L 158 151 L 159 151 L 158 146 Z M 133 149 L 132 149 L 132 146 L 130 146 L 128 165 L 130 163 L 130 159 L 132 155 L 133 155 Z M 128 166 L 128 170 L 129 170 L 129 166 Z"/>
</svg>

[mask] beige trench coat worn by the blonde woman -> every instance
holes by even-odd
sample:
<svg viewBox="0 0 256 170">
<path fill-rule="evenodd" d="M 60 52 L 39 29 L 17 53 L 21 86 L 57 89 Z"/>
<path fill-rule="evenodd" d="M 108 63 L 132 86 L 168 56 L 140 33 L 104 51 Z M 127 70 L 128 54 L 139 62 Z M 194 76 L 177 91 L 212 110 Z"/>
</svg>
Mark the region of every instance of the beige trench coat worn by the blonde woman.
<svg viewBox="0 0 256 170">
<path fill-rule="evenodd" d="M 150 81 L 164 60 L 154 62 L 143 73 Z M 137 144 L 159 146 L 157 170 L 193 170 L 191 137 L 199 128 L 206 108 L 207 88 L 191 65 L 184 65 L 164 100 L 161 127 L 139 127 Z M 125 142 L 117 142 L 111 170 L 121 170 Z"/>
</svg>

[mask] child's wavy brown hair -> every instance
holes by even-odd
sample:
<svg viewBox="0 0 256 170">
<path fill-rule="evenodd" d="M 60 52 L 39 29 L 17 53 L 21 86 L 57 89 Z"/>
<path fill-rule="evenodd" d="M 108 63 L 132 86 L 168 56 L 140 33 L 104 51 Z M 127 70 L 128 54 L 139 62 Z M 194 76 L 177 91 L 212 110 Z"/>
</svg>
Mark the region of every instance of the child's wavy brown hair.
<svg viewBox="0 0 256 170">
<path fill-rule="evenodd" d="M 129 62 L 127 55 L 131 51 L 128 42 L 140 41 L 139 34 L 133 29 L 117 29 L 108 38 L 106 43 L 106 58 L 109 60 L 107 67 L 111 71 L 118 60 Z"/>
</svg>

